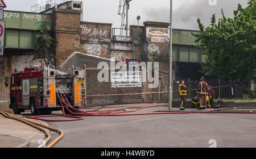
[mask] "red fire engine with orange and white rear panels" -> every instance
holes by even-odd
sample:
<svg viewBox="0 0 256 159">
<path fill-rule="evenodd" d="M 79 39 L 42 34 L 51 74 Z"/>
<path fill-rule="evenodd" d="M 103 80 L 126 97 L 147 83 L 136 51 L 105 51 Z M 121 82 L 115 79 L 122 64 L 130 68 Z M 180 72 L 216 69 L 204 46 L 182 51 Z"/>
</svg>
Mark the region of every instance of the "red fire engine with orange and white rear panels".
<svg viewBox="0 0 256 159">
<path fill-rule="evenodd" d="M 59 95 L 65 95 L 73 107 L 86 106 L 86 66 L 56 70 L 44 61 L 23 62 L 24 70 L 11 74 L 9 107 L 14 114 L 50 114 L 61 110 Z M 8 83 L 8 81 L 7 81 Z"/>
</svg>

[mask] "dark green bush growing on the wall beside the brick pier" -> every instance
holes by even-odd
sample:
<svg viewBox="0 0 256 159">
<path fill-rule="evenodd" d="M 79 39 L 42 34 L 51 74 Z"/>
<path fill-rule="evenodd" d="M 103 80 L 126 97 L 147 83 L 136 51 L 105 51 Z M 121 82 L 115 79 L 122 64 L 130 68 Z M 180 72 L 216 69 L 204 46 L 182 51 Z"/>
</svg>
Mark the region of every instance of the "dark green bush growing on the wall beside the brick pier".
<svg viewBox="0 0 256 159">
<path fill-rule="evenodd" d="M 52 37 L 51 37 L 51 28 L 49 24 L 44 22 L 40 28 L 39 34 L 36 36 L 38 38 L 35 51 L 39 52 L 41 56 L 45 57 L 46 52 L 51 48 Z"/>
</svg>

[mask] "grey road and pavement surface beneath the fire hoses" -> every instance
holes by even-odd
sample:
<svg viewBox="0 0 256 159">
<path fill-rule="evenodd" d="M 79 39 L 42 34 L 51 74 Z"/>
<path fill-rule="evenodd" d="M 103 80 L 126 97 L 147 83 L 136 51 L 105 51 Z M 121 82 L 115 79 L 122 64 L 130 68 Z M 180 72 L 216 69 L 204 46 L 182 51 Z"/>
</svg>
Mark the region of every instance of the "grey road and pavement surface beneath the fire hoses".
<svg viewBox="0 0 256 159">
<path fill-rule="evenodd" d="M 102 108 L 102 111 L 133 106 L 157 106 L 133 113 L 179 111 L 179 108 L 168 110 L 163 103 L 120 104 Z M 85 110 L 93 109 L 95 107 Z M 126 108 L 123 112 L 131 110 L 134 108 Z M 186 111 L 197 110 L 187 108 Z M 61 111 L 53 113 L 61 114 Z M 20 116 L 26 118 L 30 112 Z M 255 122 L 255 114 L 196 113 L 84 116 L 84 120 L 80 121 L 47 124 L 64 129 L 64 138 L 54 147 L 209 147 L 211 139 L 217 141 L 218 147 L 256 147 Z M 51 133 L 53 139 L 57 137 L 57 134 Z M 0 148 L 33 147 L 43 138 L 44 133 L 38 129 L 0 115 Z"/>
</svg>

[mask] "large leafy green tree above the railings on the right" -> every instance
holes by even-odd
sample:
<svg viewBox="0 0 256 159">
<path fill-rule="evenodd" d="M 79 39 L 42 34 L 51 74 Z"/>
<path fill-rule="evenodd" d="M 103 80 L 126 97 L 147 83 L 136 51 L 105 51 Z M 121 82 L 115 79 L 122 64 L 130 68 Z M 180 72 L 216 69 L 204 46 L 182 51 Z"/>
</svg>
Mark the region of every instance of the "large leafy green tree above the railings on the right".
<svg viewBox="0 0 256 159">
<path fill-rule="evenodd" d="M 216 15 L 210 26 L 204 28 L 197 19 L 200 32 L 193 34 L 196 43 L 207 55 L 203 64 L 206 76 L 217 76 L 230 81 L 255 80 L 256 73 L 256 0 L 249 0 L 248 6 L 239 4 L 234 10 L 234 18 L 222 18 L 216 23 Z"/>
</svg>

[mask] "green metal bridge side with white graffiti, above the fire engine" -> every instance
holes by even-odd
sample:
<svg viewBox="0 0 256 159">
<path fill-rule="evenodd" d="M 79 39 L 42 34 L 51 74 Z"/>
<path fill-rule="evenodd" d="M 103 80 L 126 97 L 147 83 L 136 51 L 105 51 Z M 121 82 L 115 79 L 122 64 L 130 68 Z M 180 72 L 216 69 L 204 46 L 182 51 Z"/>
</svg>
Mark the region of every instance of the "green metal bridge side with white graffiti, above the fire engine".
<svg viewBox="0 0 256 159">
<path fill-rule="evenodd" d="M 43 22 L 52 26 L 52 15 L 4 11 L 6 21 L 5 48 L 34 49 L 36 34 Z"/>
</svg>

